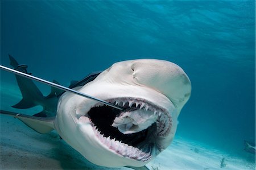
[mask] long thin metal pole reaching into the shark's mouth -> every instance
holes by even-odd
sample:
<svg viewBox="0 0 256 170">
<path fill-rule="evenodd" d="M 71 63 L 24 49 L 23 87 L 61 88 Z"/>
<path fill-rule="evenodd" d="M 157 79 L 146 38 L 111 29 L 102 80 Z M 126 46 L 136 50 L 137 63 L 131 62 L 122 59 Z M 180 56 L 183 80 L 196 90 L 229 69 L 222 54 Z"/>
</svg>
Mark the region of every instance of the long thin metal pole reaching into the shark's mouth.
<svg viewBox="0 0 256 170">
<path fill-rule="evenodd" d="M 107 106 L 110 106 L 110 107 L 114 107 L 115 109 L 123 110 L 123 108 L 120 107 L 120 106 L 116 106 L 116 105 L 113 105 L 112 103 L 106 102 L 106 101 L 104 101 L 102 99 L 98 99 L 98 98 L 89 96 L 88 94 L 84 94 L 84 93 L 78 92 L 76 90 L 66 88 L 65 86 L 61 86 L 59 84 L 55 84 L 54 82 L 43 80 L 42 78 L 31 76 L 30 74 L 19 72 L 19 71 L 16 71 L 15 69 L 11 69 L 11 68 L 8 68 L 8 67 L 2 66 L 2 65 L 0 65 L 0 68 L 2 70 L 4 70 L 4 71 L 11 72 L 11 73 L 17 74 L 17 75 L 22 76 L 22 77 L 30 78 L 31 80 L 36 80 L 36 81 L 42 82 L 43 84 L 46 84 L 46 85 L 49 85 L 49 86 L 53 86 L 54 88 L 61 89 L 61 90 L 64 90 L 66 92 L 75 93 L 75 94 L 77 94 L 79 96 L 86 97 L 86 98 L 89 98 L 89 99 L 93 99 L 95 101 L 103 103 L 104 105 L 107 105 Z"/>
</svg>

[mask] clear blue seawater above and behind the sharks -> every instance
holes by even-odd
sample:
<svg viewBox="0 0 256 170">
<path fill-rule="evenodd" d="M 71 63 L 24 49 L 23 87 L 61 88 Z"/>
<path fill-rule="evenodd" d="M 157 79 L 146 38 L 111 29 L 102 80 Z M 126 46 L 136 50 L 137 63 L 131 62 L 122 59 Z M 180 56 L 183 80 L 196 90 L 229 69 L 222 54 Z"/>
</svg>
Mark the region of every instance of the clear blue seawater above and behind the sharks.
<svg viewBox="0 0 256 170">
<path fill-rule="evenodd" d="M 66 86 L 121 60 L 172 61 L 192 82 L 176 135 L 238 155 L 255 143 L 254 1 L 1 1 L 2 65 L 8 53 Z"/>
</svg>

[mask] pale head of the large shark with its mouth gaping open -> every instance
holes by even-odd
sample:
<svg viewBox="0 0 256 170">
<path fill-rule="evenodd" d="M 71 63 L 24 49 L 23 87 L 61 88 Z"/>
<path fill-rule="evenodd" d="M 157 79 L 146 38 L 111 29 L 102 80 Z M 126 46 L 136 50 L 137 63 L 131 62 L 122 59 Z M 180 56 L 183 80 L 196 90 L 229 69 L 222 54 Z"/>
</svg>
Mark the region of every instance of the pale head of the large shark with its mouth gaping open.
<svg viewBox="0 0 256 170">
<path fill-rule="evenodd" d="M 55 122 L 60 136 L 94 164 L 141 167 L 170 145 L 191 82 L 174 63 L 142 59 L 113 64 L 79 91 L 124 110 L 65 93 Z"/>
</svg>

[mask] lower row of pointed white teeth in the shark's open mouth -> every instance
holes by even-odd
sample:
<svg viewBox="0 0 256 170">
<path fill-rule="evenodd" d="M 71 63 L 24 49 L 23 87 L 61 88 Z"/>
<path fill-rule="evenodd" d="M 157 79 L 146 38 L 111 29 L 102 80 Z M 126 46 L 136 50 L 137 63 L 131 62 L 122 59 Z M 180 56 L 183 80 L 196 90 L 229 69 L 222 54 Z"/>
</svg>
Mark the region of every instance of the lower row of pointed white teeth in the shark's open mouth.
<svg viewBox="0 0 256 170">
<path fill-rule="evenodd" d="M 117 154 L 139 161 L 147 161 L 148 159 L 151 159 L 150 152 L 146 153 L 139 150 L 138 148 L 122 143 L 119 140 L 110 139 L 110 136 L 106 138 L 102 134 L 100 134 L 100 131 L 98 131 L 95 126 L 93 127 L 98 139 L 100 139 L 102 143 L 108 146 L 110 150 L 117 152 Z"/>
</svg>

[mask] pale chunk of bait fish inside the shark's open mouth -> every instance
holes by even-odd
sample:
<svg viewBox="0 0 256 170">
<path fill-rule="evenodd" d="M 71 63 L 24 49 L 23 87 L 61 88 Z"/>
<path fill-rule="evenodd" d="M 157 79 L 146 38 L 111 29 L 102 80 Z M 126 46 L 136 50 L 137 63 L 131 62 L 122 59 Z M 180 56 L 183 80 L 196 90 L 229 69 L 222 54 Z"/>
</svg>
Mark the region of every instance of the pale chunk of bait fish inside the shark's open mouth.
<svg viewBox="0 0 256 170">
<path fill-rule="evenodd" d="M 156 119 L 157 115 L 150 110 L 126 110 L 114 119 L 112 126 L 123 134 L 133 134 L 148 128 Z"/>
</svg>

